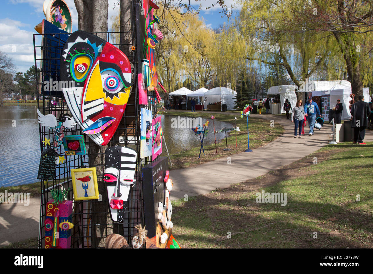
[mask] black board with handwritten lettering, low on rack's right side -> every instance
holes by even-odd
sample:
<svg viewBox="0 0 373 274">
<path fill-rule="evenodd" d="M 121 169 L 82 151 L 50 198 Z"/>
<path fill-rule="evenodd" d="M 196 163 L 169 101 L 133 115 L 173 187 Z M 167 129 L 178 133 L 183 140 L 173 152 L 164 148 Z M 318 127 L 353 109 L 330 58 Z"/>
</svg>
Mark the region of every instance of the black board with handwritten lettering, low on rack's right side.
<svg viewBox="0 0 373 274">
<path fill-rule="evenodd" d="M 159 157 L 142 168 L 142 189 L 144 193 L 145 226 L 149 238 L 156 236 L 158 223 L 158 204 L 164 204 L 165 184 L 163 182 L 168 170 L 168 158 Z"/>
</svg>

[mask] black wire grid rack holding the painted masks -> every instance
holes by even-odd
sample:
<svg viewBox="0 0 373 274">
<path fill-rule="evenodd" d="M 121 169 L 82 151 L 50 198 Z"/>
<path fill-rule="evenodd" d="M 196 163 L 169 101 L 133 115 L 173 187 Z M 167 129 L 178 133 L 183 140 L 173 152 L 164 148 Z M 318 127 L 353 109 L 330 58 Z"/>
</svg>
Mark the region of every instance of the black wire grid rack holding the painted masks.
<svg viewBox="0 0 373 274">
<path fill-rule="evenodd" d="M 132 1 L 132 18 L 135 18 L 135 3 L 137 0 Z M 107 41 L 115 45 L 118 48 L 126 47 L 131 48 L 132 45 L 136 45 L 136 24 L 132 24 L 133 28 L 130 32 L 105 32 Z M 97 35 L 99 33 L 93 33 Z M 102 34 L 102 33 L 101 33 Z M 128 43 L 119 44 L 113 41 L 119 41 L 116 39 L 119 35 L 124 35 Z M 35 40 L 39 40 L 38 36 L 41 37 L 42 45 L 36 45 Z M 53 114 L 59 117 L 60 113 L 68 114 L 72 117 L 66 101 L 64 100 L 62 91 L 46 91 L 48 89 L 46 85 L 50 81 L 59 81 L 59 63 L 60 56 L 63 51 L 63 46 L 67 39 L 68 34 L 34 34 L 34 55 L 35 55 L 35 68 L 36 68 L 36 83 L 39 90 L 38 97 L 38 109 L 42 114 Z M 116 37 L 116 38 L 115 38 Z M 37 54 L 41 52 L 41 57 L 37 58 Z M 131 245 L 131 238 L 134 234 L 134 226 L 137 224 L 144 224 L 144 209 L 143 209 L 143 196 L 142 196 L 142 166 L 151 162 L 150 157 L 140 159 L 140 108 L 147 108 L 152 110 L 153 117 L 156 114 L 156 105 L 139 105 L 138 98 L 138 64 L 137 64 L 137 52 L 129 50 L 129 54 L 126 54 L 132 67 L 132 79 L 134 85 L 131 88 L 131 95 L 126 105 L 125 112 L 123 114 L 120 125 L 118 126 L 115 135 L 109 142 L 111 145 L 122 145 L 135 149 L 137 153 L 136 161 L 136 172 L 134 183 L 130 196 L 128 199 L 129 206 L 128 212 L 121 223 L 112 223 L 109 217 L 109 207 L 107 202 L 106 186 L 103 182 L 103 171 L 105 162 L 105 148 L 100 147 L 96 151 L 97 145 L 91 138 L 82 133 L 82 129 L 76 125 L 71 130 L 65 129 L 65 136 L 69 135 L 83 135 L 84 142 L 87 149 L 86 155 L 65 155 L 63 145 L 58 149 L 57 153 L 59 156 L 64 156 L 65 161 L 56 165 L 56 176 L 53 180 L 47 180 L 41 182 L 41 202 L 40 202 L 40 224 L 39 224 L 39 241 L 38 247 L 44 248 L 45 240 L 45 224 L 46 219 L 46 204 L 52 199 L 51 190 L 63 189 L 67 190 L 68 194 L 66 198 L 73 201 L 73 214 L 72 223 L 74 227 L 71 231 L 71 248 L 92 248 L 92 247 L 103 247 L 104 238 L 111 234 L 117 233 L 123 235 L 129 245 Z M 44 84 L 45 81 L 48 84 Z M 155 98 L 154 92 L 148 92 L 150 97 Z M 149 103 L 149 101 L 148 101 Z M 43 127 L 39 125 L 40 130 L 40 150 L 46 149 L 46 145 L 43 143 L 44 138 L 53 141 L 53 129 Z M 95 163 L 88 165 L 89 157 L 95 158 Z M 84 167 L 96 167 L 98 190 L 101 195 L 99 200 L 85 200 L 85 201 L 74 201 L 72 193 L 72 181 L 71 181 L 71 169 L 79 169 Z"/>
</svg>

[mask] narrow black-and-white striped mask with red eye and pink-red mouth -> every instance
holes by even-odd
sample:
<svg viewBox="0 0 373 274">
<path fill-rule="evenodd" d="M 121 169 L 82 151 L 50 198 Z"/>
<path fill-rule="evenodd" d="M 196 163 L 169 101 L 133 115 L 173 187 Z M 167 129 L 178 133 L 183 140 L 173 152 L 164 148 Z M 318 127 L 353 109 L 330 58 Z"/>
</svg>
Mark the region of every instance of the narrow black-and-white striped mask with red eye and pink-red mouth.
<svg viewBox="0 0 373 274">
<path fill-rule="evenodd" d="M 110 217 L 115 223 L 121 222 L 128 210 L 129 192 L 136 181 L 136 157 L 136 151 L 128 147 L 116 145 L 105 150 L 104 182 Z"/>
</svg>

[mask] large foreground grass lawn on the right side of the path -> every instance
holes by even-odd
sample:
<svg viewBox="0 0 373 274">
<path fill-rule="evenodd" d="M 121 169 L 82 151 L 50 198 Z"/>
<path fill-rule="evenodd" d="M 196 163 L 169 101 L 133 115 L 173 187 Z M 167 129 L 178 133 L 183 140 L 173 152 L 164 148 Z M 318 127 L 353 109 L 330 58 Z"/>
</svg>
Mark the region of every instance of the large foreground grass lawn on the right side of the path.
<svg viewBox="0 0 373 274">
<path fill-rule="evenodd" d="M 256 179 L 174 201 L 172 234 L 184 248 L 372 248 L 372 147 L 328 145 Z M 257 203 L 262 190 L 286 192 L 287 204 Z"/>
</svg>

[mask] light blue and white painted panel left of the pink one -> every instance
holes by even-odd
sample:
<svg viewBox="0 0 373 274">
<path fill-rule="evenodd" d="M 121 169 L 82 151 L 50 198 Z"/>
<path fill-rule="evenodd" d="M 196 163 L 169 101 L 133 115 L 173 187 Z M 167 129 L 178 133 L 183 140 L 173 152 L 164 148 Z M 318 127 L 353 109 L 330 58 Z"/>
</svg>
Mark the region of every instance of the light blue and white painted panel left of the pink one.
<svg viewBox="0 0 373 274">
<path fill-rule="evenodd" d="M 141 108 L 140 158 L 151 156 L 151 144 L 153 143 L 153 136 L 151 134 L 151 118 L 151 110 Z"/>
</svg>

